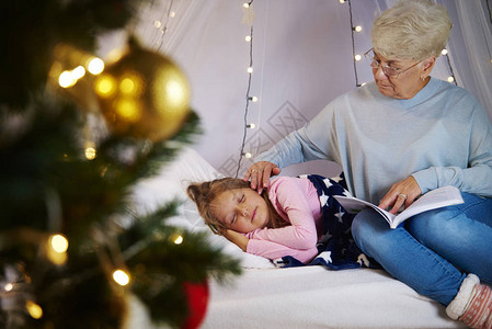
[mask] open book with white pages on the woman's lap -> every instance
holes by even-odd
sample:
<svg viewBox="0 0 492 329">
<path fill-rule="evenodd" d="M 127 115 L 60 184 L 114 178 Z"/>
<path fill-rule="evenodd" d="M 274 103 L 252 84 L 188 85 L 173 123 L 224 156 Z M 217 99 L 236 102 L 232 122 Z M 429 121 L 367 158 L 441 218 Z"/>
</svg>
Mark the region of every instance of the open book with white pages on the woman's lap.
<svg viewBox="0 0 492 329">
<path fill-rule="evenodd" d="M 334 197 L 350 214 L 358 213 L 367 207 L 374 208 L 389 223 L 391 228 L 397 228 L 400 223 L 416 214 L 464 203 L 461 193 L 455 186 L 444 186 L 432 190 L 416 198 L 408 208 L 398 215 L 393 215 L 369 202 L 353 196 L 334 195 Z"/>
</svg>

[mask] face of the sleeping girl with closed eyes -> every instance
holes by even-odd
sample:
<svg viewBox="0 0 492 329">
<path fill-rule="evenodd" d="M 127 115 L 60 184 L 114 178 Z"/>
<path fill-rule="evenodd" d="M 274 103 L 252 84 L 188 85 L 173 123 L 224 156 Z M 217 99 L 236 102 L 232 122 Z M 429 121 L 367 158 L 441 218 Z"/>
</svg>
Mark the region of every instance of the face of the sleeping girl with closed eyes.
<svg viewBox="0 0 492 329">
<path fill-rule="evenodd" d="M 214 207 L 217 219 L 238 232 L 264 228 L 270 223 L 265 200 L 250 188 L 222 192 L 214 200 Z"/>
</svg>

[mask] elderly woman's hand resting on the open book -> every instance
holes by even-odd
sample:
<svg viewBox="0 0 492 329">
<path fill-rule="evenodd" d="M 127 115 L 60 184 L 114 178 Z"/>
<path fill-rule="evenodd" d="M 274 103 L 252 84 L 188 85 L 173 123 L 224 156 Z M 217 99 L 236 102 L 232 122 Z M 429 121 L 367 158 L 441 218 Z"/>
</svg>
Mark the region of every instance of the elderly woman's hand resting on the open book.
<svg viewBox="0 0 492 329">
<path fill-rule="evenodd" d="M 380 208 L 391 207 L 391 214 L 397 214 L 402 205 L 409 207 L 422 194 L 422 190 L 413 177 L 408 177 L 393 184 L 379 204 Z"/>
</svg>

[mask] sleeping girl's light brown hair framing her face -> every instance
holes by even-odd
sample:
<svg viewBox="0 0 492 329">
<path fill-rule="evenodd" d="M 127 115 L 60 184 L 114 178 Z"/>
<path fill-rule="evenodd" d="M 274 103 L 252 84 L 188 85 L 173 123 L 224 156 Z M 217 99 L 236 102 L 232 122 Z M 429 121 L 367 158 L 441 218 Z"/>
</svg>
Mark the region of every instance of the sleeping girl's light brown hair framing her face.
<svg viewBox="0 0 492 329">
<path fill-rule="evenodd" d="M 219 234 L 219 228 L 226 229 L 227 227 L 215 216 L 214 201 L 226 191 L 240 189 L 251 189 L 250 183 L 236 178 L 221 178 L 207 182 L 191 183 L 186 189 L 186 193 L 196 204 L 198 214 L 204 218 L 205 224 L 210 227 L 211 231 Z M 266 190 L 263 190 L 261 196 L 268 207 L 270 223 L 267 227 L 277 228 L 288 226 L 289 224 L 275 211 Z"/>
</svg>

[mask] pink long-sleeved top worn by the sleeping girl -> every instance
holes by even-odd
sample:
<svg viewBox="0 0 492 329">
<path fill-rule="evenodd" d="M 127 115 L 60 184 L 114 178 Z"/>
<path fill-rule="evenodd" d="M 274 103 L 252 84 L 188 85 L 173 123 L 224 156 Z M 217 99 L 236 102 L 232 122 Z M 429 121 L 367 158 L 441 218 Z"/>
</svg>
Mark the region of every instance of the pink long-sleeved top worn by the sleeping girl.
<svg viewBox="0 0 492 329">
<path fill-rule="evenodd" d="M 279 177 L 272 180 L 267 191 L 273 206 L 290 226 L 247 234 L 247 252 L 268 259 L 291 256 L 309 262 L 318 253 L 316 245 L 323 225 L 314 185 L 306 178 Z"/>
</svg>

